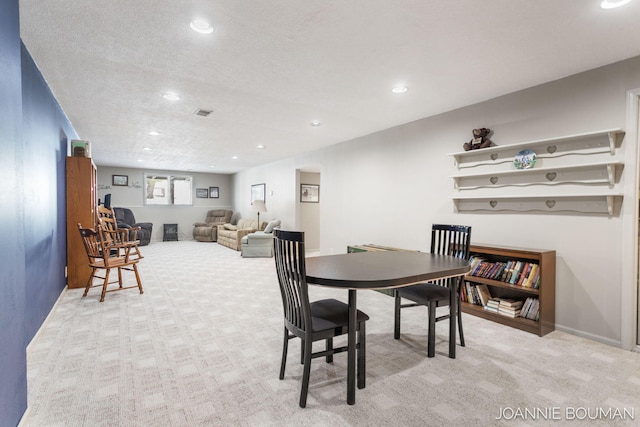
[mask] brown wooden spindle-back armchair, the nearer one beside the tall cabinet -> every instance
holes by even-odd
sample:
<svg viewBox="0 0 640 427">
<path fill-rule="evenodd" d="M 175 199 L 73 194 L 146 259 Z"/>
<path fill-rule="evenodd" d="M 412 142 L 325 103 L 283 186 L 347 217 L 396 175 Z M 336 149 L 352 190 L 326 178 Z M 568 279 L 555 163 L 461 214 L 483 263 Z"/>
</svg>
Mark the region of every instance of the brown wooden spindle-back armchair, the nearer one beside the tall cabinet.
<svg viewBox="0 0 640 427">
<path fill-rule="evenodd" d="M 89 276 L 89 280 L 87 280 L 87 285 L 82 295 L 83 297 L 86 297 L 89 289 L 93 287 L 102 287 L 100 302 L 104 301 L 104 296 L 107 292 L 138 288 L 141 294 L 144 293 L 137 267 L 141 257 L 135 255 L 135 245 L 115 242 L 113 238 L 109 237 L 109 233 L 105 232 L 100 225 L 97 225 L 94 230 L 91 228 L 82 228 L 82 225 L 78 224 L 78 230 L 80 231 L 80 237 L 87 252 L 87 257 L 89 258 L 89 267 L 91 267 L 91 275 Z M 118 280 L 117 282 L 109 282 L 111 269 L 114 268 L 118 271 Z M 97 274 L 100 270 L 104 270 L 104 276 Z M 123 270 L 133 271 L 137 285 L 123 286 Z M 95 278 L 102 279 L 102 283 L 94 284 Z M 118 283 L 119 287 L 107 289 L 107 286 L 112 283 Z"/>
</svg>

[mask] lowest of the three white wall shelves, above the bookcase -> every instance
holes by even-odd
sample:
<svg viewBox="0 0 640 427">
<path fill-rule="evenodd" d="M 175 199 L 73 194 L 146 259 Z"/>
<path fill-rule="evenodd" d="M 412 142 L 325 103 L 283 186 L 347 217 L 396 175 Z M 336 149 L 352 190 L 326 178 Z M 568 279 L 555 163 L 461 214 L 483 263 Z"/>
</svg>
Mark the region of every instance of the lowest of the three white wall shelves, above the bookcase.
<svg viewBox="0 0 640 427">
<path fill-rule="evenodd" d="M 514 212 L 581 212 L 617 215 L 621 194 L 453 197 L 456 210 Z"/>
</svg>

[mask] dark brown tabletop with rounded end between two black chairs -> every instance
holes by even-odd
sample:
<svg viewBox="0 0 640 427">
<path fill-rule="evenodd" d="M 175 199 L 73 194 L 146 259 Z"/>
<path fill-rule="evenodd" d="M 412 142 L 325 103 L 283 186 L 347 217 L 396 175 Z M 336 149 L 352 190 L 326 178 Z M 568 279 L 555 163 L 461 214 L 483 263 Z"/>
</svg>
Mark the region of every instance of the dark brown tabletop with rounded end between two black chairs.
<svg viewBox="0 0 640 427">
<path fill-rule="evenodd" d="M 306 259 L 307 282 L 343 289 L 384 289 L 460 276 L 469 262 L 413 251 L 357 252 Z"/>
</svg>

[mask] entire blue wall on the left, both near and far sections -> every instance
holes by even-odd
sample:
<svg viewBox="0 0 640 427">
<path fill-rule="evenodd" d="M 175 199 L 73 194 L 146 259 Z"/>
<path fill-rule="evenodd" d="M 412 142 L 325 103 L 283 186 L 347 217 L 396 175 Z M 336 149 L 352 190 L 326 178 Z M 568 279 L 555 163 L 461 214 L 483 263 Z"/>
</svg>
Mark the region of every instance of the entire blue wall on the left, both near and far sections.
<svg viewBox="0 0 640 427">
<path fill-rule="evenodd" d="M 0 426 L 27 408 L 26 347 L 65 287 L 65 157 L 77 138 L 0 0 Z"/>
</svg>

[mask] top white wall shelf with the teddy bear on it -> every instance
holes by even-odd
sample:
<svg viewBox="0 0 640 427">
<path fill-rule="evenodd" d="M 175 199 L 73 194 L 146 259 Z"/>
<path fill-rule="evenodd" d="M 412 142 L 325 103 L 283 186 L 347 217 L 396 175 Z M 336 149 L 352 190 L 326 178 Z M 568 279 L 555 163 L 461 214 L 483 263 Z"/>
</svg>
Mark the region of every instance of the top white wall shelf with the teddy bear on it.
<svg viewBox="0 0 640 427">
<path fill-rule="evenodd" d="M 541 139 L 511 145 L 480 148 L 451 153 L 458 169 L 480 165 L 496 165 L 513 162 L 522 150 L 533 150 L 538 158 L 554 158 L 566 155 L 615 154 L 622 144 L 624 131 L 609 129 L 597 132 L 568 135 L 559 138 Z"/>
</svg>

